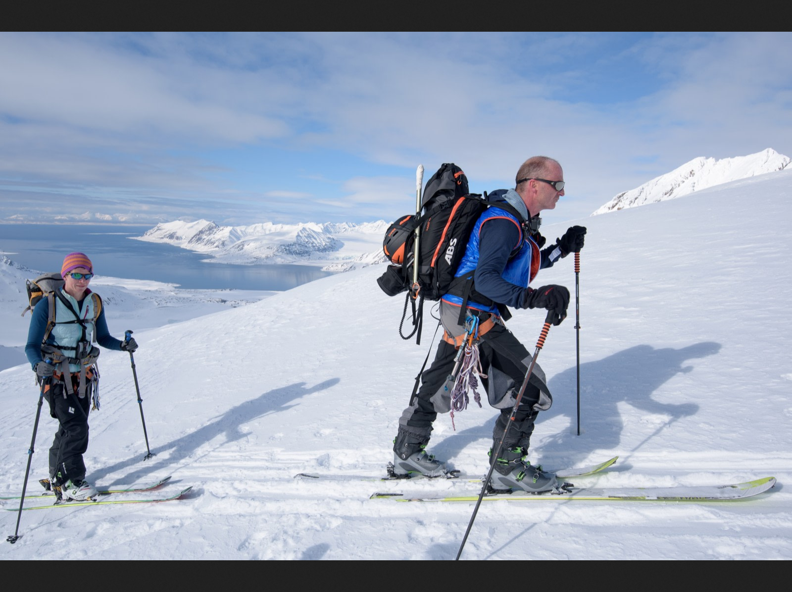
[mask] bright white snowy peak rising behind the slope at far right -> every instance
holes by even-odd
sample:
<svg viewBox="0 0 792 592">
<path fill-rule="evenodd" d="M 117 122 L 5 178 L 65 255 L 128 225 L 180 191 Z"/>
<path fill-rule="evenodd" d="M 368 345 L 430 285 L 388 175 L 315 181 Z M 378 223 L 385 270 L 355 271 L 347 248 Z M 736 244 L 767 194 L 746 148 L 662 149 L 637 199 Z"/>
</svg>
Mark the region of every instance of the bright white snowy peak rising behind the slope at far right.
<svg viewBox="0 0 792 592">
<path fill-rule="evenodd" d="M 715 160 L 701 156 L 685 162 L 670 173 L 647 181 L 640 187 L 619 193 L 593 212 L 592 216 L 653 204 L 657 201 L 672 200 L 714 185 L 784 170 L 790 162 L 792 162 L 790 157 L 780 155 L 772 148 L 733 159 Z"/>
</svg>

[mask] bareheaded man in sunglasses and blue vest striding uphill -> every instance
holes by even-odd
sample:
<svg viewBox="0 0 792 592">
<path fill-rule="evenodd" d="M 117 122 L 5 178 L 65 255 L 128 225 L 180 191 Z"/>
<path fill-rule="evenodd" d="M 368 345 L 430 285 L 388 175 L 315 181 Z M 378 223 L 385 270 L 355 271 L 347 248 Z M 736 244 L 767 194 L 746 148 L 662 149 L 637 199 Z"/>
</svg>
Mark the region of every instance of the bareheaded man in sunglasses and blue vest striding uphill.
<svg viewBox="0 0 792 592">
<path fill-rule="evenodd" d="M 555 208 L 564 195 L 563 179 L 557 161 L 535 156 L 520 166 L 515 189 L 489 194 L 491 205 L 475 223 L 455 280 L 440 300 L 444 340 L 431 367 L 421 376 L 420 390 L 399 418 L 394 440 L 394 472 L 398 475 L 444 474 L 444 464 L 428 455 L 425 447 L 437 414 L 451 411 L 451 390 L 446 380 L 455 366 L 457 346 L 466 330 L 476 327 L 482 383 L 489 404 L 501 410 L 490 450 L 490 463 L 494 462 L 496 469 L 491 485 L 499 490 L 524 491 L 546 491 L 555 486 L 554 475 L 525 460 L 536 416 L 552 404 L 539 365 L 531 374 L 500 457 L 491 456 L 500 445 L 531 361 L 531 354 L 505 327 L 504 320 L 511 316 L 506 307 L 545 308 L 551 312 L 553 324 L 558 325 L 569 305 L 569 290 L 563 286 L 528 287 L 540 268 L 581 250 L 584 243 L 586 229 L 573 226 L 557 243 L 541 249 L 545 239 L 539 235 L 539 212 Z"/>
</svg>

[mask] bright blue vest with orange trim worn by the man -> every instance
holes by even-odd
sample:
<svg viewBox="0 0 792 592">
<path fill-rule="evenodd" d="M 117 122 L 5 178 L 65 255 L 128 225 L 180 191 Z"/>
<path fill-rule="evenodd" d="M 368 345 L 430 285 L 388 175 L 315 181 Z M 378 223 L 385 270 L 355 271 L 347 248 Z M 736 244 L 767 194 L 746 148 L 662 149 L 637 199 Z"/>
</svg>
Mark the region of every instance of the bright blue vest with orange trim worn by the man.
<svg viewBox="0 0 792 592">
<path fill-rule="evenodd" d="M 527 288 L 528 284 L 536 277 L 536 273 L 539 272 L 539 265 L 542 261 L 539 245 L 537 245 L 530 236 L 524 234 L 522 227 L 520 227 L 520 221 L 517 220 L 515 216 L 498 208 L 497 205 L 490 206 L 487 211 L 478 218 L 478 221 L 473 227 L 473 231 L 470 232 L 470 240 L 467 243 L 465 254 L 463 255 L 462 261 L 459 262 L 459 267 L 454 277 L 461 277 L 476 269 L 478 265 L 479 239 L 482 224 L 496 218 L 511 220 L 520 230 L 520 242 L 515 245 L 515 248 L 520 246 L 520 250 L 509 258 L 503 273 L 501 273 L 501 277 L 510 284 L 518 285 L 521 288 Z M 443 296 L 442 300 L 449 304 L 455 304 L 456 306 L 462 306 L 463 304 L 462 296 L 455 296 L 453 294 L 446 294 Z M 492 312 L 496 315 L 500 314 L 497 306 L 494 304 L 492 306 L 486 306 L 470 299 L 467 301 L 467 306 L 480 311 Z"/>
</svg>

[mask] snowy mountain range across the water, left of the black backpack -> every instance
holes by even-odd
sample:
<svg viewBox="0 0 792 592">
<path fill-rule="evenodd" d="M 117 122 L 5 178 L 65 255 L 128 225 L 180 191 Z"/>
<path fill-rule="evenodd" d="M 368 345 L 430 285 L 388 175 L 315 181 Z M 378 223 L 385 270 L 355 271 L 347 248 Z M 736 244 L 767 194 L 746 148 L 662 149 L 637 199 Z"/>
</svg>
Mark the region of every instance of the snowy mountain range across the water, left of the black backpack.
<svg viewBox="0 0 792 592">
<path fill-rule="evenodd" d="M 344 271 L 384 260 L 383 220 L 373 223 L 300 223 L 218 226 L 208 220 L 161 223 L 139 240 L 169 243 L 211 255 L 209 261 L 310 263 L 328 271 Z"/>
</svg>

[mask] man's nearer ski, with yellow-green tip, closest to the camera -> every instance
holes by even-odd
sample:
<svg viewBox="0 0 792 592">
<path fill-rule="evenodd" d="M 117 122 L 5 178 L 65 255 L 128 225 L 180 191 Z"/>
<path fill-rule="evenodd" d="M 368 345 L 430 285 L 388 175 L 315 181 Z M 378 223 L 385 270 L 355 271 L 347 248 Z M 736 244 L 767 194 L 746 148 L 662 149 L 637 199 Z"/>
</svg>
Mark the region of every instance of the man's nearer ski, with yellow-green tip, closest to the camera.
<svg viewBox="0 0 792 592">
<path fill-rule="evenodd" d="M 652 502 L 725 502 L 750 498 L 775 486 L 775 477 L 764 477 L 729 485 L 675 485 L 672 487 L 574 487 L 571 484 L 539 494 L 516 491 L 512 494 L 488 494 L 484 501 L 566 502 L 588 501 L 652 501 Z M 463 495 L 433 496 L 426 491 L 379 492 L 371 499 L 392 499 L 397 502 L 476 502 L 480 491 Z"/>
</svg>

